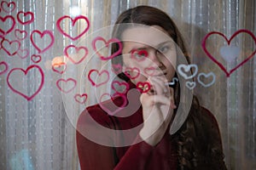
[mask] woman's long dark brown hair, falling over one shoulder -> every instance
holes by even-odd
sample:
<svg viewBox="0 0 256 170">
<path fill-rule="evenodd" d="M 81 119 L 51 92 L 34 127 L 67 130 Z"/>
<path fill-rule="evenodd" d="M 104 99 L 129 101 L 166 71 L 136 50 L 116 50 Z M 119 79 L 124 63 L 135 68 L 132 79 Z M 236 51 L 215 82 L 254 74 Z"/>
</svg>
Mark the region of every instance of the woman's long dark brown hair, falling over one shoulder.
<svg viewBox="0 0 256 170">
<path fill-rule="evenodd" d="M 183 37 L 178 31 L 177 26 L 172 21 L 172 19 L 165 12 L 161 11 L 158 8 L 153 8 L 149 6 L 137 6 L 136 8 L 130 8 L 119 15 L 115 26 L 113 28 L 113 37 L 121 40 L 122 33 L 125 29 L 128 29 L 132 25 L 120 25 L 125 23 L 132 24 L 142 24 L 146 26 L 160 26 L 162 27 L 172 40 L 177 43 L 177 46 L 183 52 L 183 55 L 187 59 L 187 62 L 190 64 L 189 56 L 185 44 L 183 42 Z M 112 54 L 118 51 L 118 44 L 112 44 Z M 113 58 L 112 64 L 121 64 L 122 58 Z M 177 75 L 175 75 L 177 77 Z M 125 76 L 124 73 L 119 73 L 118 77 L 128 81 L 129 78 Z M 177 83 L 175 88 L 175 101 L 179 101 L 180 88 Z M 223 155 L 222 148 L 217 144 L 211 148 L 212 151 L 210 157 L 207 157 L 203 150 L 207 150 L 207 139 L 204 136 L 203 128 L 201 125 L 201 106 L 199 105 L 198 99 L 193 97 L 191 109 L 189 111 L 189 116 L 186 121 L 183 123 L 183 126 L 172 135 L 172 141 L 174 141 L 177 147 L 177 161 L 178 169 L 197 169 L 198 167 L 205 167 L 209 165 L 209 161 L 214 162 L 213 159 L 222 160 Z M 209 130 L 210 131 L 210 130 Z M 218 143 L 218 141 L 216 142 Z M 213 158 L 212 158 L 213 157 Z M 214 158 L 215 157 L 215 158 Z M 207 160 L 209 159 L 209 160 Z M 218 164 L 218 161 L 215 162 Z M 202 166 L 204 164 L 204 166 Z M 215 169 L 212 165 L 212 168 Z"/>
</svg>

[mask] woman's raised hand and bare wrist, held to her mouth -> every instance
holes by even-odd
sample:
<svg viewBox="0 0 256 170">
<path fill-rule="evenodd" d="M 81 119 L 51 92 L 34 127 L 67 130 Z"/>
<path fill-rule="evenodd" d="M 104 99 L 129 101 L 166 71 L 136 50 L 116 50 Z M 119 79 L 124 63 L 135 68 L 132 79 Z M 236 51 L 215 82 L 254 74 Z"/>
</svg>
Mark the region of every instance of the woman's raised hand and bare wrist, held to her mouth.
<svg viewBox="0 0 256 170">
<path fill-rule="evenodd" d="M 150 145 L 160 142 L 169 126 L 173 109 L 176 108 L 173 88 L 165 85 L 165 77 L 150 77 L 151 89 L 141 95 L 143 105 L 143 128 L 141 138 Z"/>
</svg>

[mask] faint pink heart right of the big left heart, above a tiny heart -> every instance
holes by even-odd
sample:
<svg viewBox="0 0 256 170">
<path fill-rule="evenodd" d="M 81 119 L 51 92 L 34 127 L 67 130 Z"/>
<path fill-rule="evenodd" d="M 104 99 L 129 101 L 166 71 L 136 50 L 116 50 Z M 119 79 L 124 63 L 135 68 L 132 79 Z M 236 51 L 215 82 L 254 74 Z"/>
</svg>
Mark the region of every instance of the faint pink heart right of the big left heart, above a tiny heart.
<svg viewBox="0 0 256 170">
<path fill-rule="evenodd" d="M 63 88 L 61 88 L 61 83 L 63 84 Z M 57 85 L 57 88 L 59 88 L 61 90 L 61 92 L 67 94 L 69 92 L 71 92 L 73 90 L 73 88 L 76 87 L 77 85 L 77 81 L 74 80 L 73 78 L 67 78 L 66 79 L 59 79 L 57 82 L 56 82 L 56 85 Z M 68 87 L 67 87 L 68 86 Z"/>
</svg>

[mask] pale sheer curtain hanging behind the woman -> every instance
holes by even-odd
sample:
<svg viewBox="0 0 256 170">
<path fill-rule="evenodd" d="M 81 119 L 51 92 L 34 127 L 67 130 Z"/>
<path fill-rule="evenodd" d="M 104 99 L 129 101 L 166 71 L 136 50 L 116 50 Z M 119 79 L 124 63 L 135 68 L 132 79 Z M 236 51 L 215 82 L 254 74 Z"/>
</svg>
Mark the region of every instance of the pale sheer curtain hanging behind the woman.
<svg viewBox="0 0 256 170">
<path fill-rule="evenodd" d="M 202 49 L 204 37 L 212 31 L 229 39 L 243 29 L 246 32 L 231 42 L 240 49 L 240 58 L 234 62 L 222 60 L 223 66 L 230 71 L 253 54 L 254 0 L 1 0 L 0 169 L 79 169 L 75 123 L 86 106 L 96 103 L 86 75 L 97 67 L 110 70 L 109 63 L 95 59 L 90 38 L 113 25 L 126 8 L 141 4 L 170 14 L 198 72 L 214 73 L 212 86 L 202 87 L 197 81 L 195 94 L 218 120 L 228 168 L 256 169 L 256 59 L 249 59 L 226 77 Z M 71 19 L 63 19 L 78 15 L 87 17 L 90 26 L 83 17 L 73 26 Z M 87 26 L 89 30 L 82 37 L 74 38 Z M 110 31 L 106 30 L 98 36 L 108 39 Z M 254 36 L 248 36 L 248 31 Z M 219 49 L 227 45 L 217 34 L 207 40 L 212 56 L 219 56 Z M 90 57 L 79 62 L 84 49 L 79 50 L 80 57 L 67 50 L 73 61 L 68 59 L 64 49 L 70 45 L 88 48 Z M 99 91 L 108 88 L 103 86 Z"/>
</svg>

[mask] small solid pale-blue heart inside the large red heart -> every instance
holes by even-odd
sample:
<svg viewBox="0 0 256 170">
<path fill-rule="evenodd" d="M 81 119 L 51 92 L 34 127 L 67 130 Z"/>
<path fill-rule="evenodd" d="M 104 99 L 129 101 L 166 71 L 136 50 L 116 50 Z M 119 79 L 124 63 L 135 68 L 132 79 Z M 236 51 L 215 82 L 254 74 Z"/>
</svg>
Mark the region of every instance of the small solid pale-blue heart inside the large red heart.
<svg viewBox="0 0 256 170">
<path fill-rule="evenodd" d="M 241 49 L 237 46 L 223 46 L 219 49 L 219 53 L 226 62 L 230 63 L 239 57 Z"/>
</svg>

